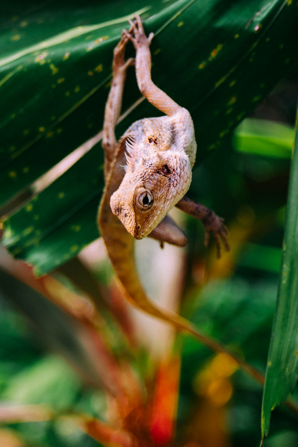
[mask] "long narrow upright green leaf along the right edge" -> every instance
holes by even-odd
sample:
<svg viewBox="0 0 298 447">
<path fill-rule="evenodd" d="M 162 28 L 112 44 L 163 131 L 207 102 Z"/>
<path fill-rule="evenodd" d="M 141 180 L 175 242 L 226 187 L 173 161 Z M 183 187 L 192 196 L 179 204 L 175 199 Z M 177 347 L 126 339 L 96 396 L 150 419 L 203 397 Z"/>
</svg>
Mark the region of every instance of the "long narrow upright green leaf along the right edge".
<svg viewBox="0 0 298 447">
<path fill-rule="evenodd" d="M 266 369 L 262 434 L 267 435 L 271 411 L 285 402 L 298 379 L 298 131 L 285 220 L 285 236 L 277 291 L 277 307 Z"/>
</svg>

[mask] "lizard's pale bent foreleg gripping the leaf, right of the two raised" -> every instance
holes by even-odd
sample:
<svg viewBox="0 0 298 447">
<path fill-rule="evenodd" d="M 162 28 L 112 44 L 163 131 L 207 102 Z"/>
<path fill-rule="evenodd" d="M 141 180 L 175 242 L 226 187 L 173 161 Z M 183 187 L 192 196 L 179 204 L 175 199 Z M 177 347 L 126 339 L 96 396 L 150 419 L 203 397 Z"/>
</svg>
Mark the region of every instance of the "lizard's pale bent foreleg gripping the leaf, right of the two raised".
<svg viewBox="0 0 298 447">
<path fill-rule="evenodd" d="M 140 92 L 161 112 L 169 116 L 179 112 L 182 107 L 160 90 L 151 79 L 151 54 L 149 45 L 153 38 L 153 33 L 147 38 L 143 29 L 142 20 L 139 16 L 135 17 L 134 22 L 130 21 L 130 25 L 131 30 L 126 31 L 125 34 L 134 44 L 136 50 L 135 72 Z"/>
</svg>

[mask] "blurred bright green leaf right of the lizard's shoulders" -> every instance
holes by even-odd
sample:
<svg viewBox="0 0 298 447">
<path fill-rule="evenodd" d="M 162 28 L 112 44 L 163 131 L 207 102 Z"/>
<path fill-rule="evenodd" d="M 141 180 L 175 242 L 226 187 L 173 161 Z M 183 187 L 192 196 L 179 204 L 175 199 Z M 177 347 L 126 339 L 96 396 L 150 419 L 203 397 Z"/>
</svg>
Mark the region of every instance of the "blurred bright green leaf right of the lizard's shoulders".
<svg viewBox="0 0 298 447">
<path fill-rule="evenodd" d="M 294 129 L 279 122 L 247 118 L 235 129 L 234 148 L 260 156 L 290 158 Z"/>
</svg>

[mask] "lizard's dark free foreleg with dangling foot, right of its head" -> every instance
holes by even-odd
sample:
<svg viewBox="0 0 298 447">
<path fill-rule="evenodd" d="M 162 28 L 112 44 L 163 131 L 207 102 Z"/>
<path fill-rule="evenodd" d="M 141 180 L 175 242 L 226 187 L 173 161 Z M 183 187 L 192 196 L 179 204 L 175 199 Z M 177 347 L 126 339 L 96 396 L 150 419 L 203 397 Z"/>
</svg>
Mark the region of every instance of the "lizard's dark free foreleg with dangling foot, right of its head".
<svg viewBox="0 0 298 447">
<path fill-rule="evenodd" d="M 205 245 L 209 243 L 209 233 L 214 234 L 217 247 L 217 257 L 221 257 L 221 240 L 226 251 L 230 250 L 229 243 L 227 241 L 228 230 L 223 223 L 222 217 L 219 217 L 214 211 L 205 207 L 201 203 L 195 202 L 188 197 L 183 197 L 180 202 L 176 204 L 176 207 L 184 211 L 186 214 L 193 216 L 195 219 L 201 220 L 205 227 Z"/>
</svg>

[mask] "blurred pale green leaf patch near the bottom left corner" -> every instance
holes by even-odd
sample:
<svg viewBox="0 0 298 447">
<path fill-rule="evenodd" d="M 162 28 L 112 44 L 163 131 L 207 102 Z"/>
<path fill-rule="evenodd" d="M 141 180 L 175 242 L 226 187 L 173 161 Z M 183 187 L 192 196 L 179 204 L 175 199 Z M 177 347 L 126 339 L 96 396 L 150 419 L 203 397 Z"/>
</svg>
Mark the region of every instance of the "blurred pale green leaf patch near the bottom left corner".
<svg viewBox="0 0 298 447">
<path fill-rule="evenodd" d="M 71 368 L 59 357 L 48 356 L 15 374 L 3 398 L 15 404 L 48 404 L 61 411 L 74 403 L 79 390 L 80 380 Z"/>
</svg>

